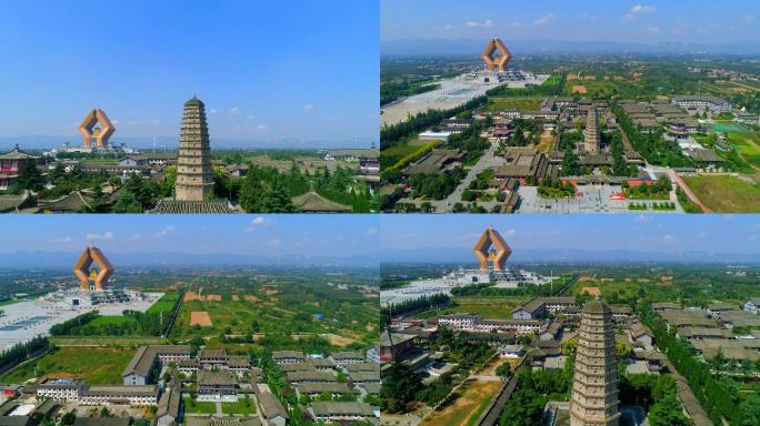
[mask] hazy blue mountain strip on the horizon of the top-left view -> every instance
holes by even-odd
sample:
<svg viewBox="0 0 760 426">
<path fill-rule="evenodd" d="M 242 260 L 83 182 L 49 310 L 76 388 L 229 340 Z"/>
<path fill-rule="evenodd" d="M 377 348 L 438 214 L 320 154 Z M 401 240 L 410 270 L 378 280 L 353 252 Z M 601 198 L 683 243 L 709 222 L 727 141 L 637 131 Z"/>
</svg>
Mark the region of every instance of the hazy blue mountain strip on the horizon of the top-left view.
<svg viewBox="0 0 760 426">
<path fill-rule="evenodd" d="M 357 139 L 351 141 L 320 141 L 320 140 L 300 140 L 300 139 L 278 139 L 268 141 L 244 141 L 238 139 L 211 138 L 211 149 L 336 149 L 336 148 L 370 148 L 372 143 L 379 146 L 379 139 Z M 22 150 L 49 150 L 60 148 L 64 142 L 70 142 L 72 145 L 79 145 L 81 140 L 78 136 L 0 136 L 0 152 L 8 151 L 17 143 Z M 121 143 L 129 148 L 138 150 L 150 150 L 156 146 L 156 150 L 177 150 L 179 142 L 174 136 L 157 136 L 156 145 L 153 145 L 153 138 L 114 138 L 111 141 L 114 145 Z"/>
</svg>

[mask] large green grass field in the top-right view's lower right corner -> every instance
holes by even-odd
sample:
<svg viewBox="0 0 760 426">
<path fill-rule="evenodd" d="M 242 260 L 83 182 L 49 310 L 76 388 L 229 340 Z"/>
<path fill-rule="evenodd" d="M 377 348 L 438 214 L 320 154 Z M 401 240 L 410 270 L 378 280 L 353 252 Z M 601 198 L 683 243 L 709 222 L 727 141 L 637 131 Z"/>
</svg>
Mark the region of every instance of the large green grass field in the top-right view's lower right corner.
<svg viewBox="0 0 760 426">
<path fill-rule="evenodd" d="M 684 176 L 683 181 L 716 213 L 760 213 L 760 186 L 733 176 Z"/>
</svg>

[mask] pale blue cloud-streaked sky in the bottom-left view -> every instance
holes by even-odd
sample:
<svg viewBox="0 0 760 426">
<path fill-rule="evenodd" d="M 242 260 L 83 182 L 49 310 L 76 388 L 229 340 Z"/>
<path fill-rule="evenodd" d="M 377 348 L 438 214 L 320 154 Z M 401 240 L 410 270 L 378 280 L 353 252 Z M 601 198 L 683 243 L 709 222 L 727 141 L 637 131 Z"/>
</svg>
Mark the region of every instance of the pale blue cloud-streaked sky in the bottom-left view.
<svg viewBox="0 0 760 426">
<path fill-rule="evenodd" d="M 93 242 L 106 253 L 316 255 L 378 253 L 374 215 L 7 215 L 0 253 L 81 252 Z"/>
</svg>

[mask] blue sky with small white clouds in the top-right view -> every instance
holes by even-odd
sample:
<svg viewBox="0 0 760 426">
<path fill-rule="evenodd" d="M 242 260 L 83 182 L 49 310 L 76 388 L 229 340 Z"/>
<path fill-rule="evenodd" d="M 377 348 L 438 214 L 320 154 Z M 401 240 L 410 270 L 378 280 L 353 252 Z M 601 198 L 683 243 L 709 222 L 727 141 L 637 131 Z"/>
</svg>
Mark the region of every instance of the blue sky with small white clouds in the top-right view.
<svg viewBox="0 0 760 426">
<path fill-rule="evenodd" d="M 707 42 L 760 40 L 757 0 L 382 0 L 382 40 Z"/>
</svg>

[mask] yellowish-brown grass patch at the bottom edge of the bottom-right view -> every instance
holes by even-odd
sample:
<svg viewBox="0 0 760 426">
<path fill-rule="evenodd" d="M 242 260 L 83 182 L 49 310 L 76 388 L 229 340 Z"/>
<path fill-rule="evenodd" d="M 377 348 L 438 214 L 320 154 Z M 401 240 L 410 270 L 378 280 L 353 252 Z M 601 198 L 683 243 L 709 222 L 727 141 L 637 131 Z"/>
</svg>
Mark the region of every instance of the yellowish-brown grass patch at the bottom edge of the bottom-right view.
<svg viewBox="0 0 760 426">
<path fill-rule="evenodd" d="M 491 402 L 501 382 L 473 382 L 459 389 L 459 398 L 432 414 L 420 426 L 470 426 Z"/>
</svg>

